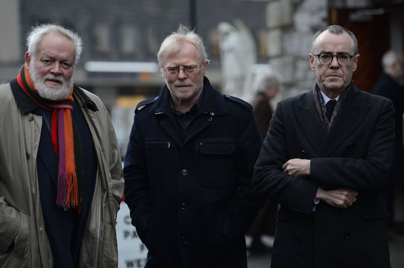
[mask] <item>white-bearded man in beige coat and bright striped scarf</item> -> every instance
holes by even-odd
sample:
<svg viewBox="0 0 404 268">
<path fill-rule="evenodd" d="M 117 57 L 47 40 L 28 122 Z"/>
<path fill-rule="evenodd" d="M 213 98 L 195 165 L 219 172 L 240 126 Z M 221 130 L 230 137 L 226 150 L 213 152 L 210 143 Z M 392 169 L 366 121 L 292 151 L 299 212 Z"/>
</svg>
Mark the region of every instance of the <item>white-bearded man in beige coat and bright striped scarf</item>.
<svg viewBox="0 0 404 268">
<path fill-rule="evenodd" d="M 123 191 L 109 114 L 72 82 L 81 38 L 58 25 L 27 37 L 0 86 L 0 267 L 117 267 Z"/>
</svg>

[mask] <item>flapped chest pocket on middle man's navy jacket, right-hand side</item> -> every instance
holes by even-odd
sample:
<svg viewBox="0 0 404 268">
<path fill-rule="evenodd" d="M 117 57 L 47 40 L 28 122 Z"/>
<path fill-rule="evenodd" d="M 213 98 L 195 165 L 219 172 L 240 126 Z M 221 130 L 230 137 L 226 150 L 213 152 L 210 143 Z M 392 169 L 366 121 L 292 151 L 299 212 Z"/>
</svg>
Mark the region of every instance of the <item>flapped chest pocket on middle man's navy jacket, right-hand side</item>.
<svg viewBox="0 0 404 268">
<path fill-rule="evenodd" d="M 232 188 L 235 184 L 232 141 L 199 141 L 198 182 L 204 188 Z"/>
</svg>

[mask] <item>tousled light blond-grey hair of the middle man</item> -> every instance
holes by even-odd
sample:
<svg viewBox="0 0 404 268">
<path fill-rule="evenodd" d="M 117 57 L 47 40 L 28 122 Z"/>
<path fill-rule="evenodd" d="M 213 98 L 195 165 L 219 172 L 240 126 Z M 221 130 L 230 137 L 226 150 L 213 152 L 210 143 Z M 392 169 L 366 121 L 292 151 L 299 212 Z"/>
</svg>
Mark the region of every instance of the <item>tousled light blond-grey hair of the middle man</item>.
<svg viewBox="0 0 404 268">
<path fill-rule="evenodd" d="M 195 30 L 191 31 L 186 26 L 180 24 L 178 30 L 167 36 L 161 43 L 160 50 L 157 53 L 160 68 L 164 67 L 164 60 L 167 57 L 181 49 L 184 42 L 189 42 L 196 47 L 201 63 L 208 61 L 205 45 L 199 34 Z"/>
</svg>

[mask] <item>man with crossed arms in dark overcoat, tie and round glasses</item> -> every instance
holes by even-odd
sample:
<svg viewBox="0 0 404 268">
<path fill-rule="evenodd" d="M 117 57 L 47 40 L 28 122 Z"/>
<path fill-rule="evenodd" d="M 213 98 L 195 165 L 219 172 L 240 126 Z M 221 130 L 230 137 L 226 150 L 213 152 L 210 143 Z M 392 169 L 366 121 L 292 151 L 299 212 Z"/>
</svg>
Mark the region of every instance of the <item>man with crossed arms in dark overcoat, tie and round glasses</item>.
<svg viewBox="0 0 404 268">
<path fill-rule="evenodd" d="M 271 267 L 390 267 L 380 192 L 393 160 L 394 107 L 352 81 L 358 41 L 330 25 L 313 37 L 312 90 L 278 102 L 252 182 L 280 203 Z"/>
</svg>

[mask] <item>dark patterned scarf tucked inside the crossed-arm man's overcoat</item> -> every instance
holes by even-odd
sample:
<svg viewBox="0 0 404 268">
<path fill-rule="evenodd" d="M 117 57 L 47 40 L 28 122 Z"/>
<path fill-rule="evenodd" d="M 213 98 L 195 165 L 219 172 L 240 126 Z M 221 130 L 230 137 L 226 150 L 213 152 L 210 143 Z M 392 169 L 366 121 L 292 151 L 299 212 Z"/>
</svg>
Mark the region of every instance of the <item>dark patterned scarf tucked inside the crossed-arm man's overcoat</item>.
<svg viewBox="0 0 404 268">
<path fill-rule="evenodd" d="M 354 82 L 350 82 L 349 85 L 344 90 L 342 90 L 342 92 L 339 94 L 339 98 L 338 98 L 337 103 L 335 104 L 334 110 L 331 114 L 331 118 L 330 118 L 330 120 L 328 120 L 328 118 L 326 116 L 326 111 L 325 111 L 324 99 L 320 93 L 320 88 L 318 87 L 317 81 L 316 81 L 316 85 L 313 89 L 314 99 L 316 101 L 317 112 L 319 113 L 321 122 L 323 123 L 325 133 L 328 133 L 330 131 L 330 128 L 332 126 L 332 123 L 334 122 L 335 116 L 338 113 L 339 106 L 341 106 L 342 101 L 345 99 L 346 95 L 348 94 L 348 92 L 353 84 L 354 84 Z"/>
</svg>

